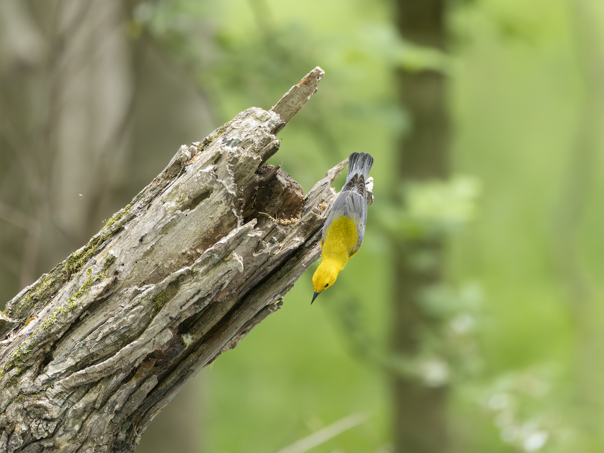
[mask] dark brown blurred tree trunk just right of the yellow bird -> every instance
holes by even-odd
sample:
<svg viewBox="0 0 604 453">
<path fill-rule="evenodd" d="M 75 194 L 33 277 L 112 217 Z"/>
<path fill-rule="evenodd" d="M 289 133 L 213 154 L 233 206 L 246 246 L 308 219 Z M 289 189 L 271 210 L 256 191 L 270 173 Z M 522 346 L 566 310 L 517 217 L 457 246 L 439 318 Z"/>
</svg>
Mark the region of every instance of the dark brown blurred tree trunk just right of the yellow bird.
<svg viewBox="0 0 604 453">
<path fill-rule="evenodd" d="M 397 25 L 415 45 L 445 50 L 445 0 L 397 0 Z M 410 132 L 400 144 L 399 178 L 403 183 L 443 179 L 449 172 L 446 79 L 440 72 L 400 70 L 400 101 L 410 114 Z M 431 323 L 419 298 L 443 274 L 441 240 L 397 243 L 394 287 L 393 348 L 396 355 L 419 353 L 420 333 Z M 394 451 L 436 453 L 448 450 L 444 385 L 393 375 Z"/>
</svg>

